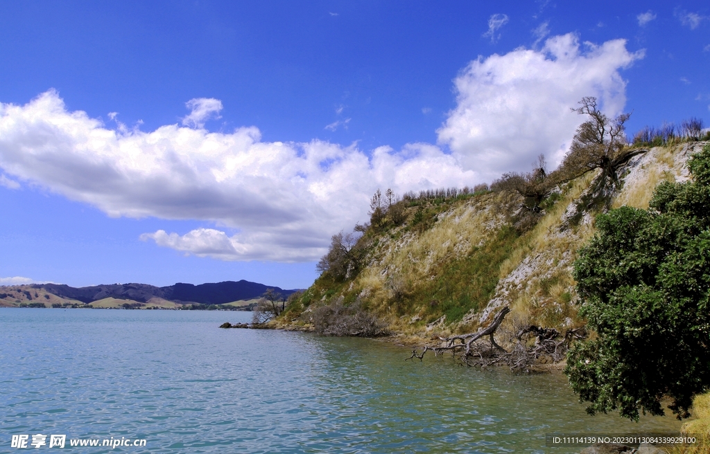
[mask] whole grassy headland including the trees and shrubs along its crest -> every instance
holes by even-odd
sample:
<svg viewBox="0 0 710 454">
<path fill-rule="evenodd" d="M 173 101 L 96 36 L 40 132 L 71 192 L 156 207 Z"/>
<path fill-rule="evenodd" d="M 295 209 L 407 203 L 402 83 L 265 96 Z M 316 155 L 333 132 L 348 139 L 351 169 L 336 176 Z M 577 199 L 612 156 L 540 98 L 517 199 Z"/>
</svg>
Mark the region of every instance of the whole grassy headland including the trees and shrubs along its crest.
<svg viewBox="0 0 710 454">
<path fill-rule="evenodd" d="M 559 334 L 584 327 L 572 263 L 594 236 L 596 215 L 648 208 L 658 183 L 689 178 L 687 158 L 710 138 L 692 120 L 682 134 L 646 128 L 628 144 L 628 116 L 606 118 L 594 101 L 581 101 L 577 111 L 589 120 L 555 171 L 541 157 L 530 173 L 491 185 L 401 197 L 378 191 L 370 222 L 332 237 L 320 277 L 272 324 L 351 334 L 358 330 L 342 316 L 350 308 L 372 317 L 378 332 L 421 343 L 484 327 L 508 306 L 497 334 L 504 346 L 531 325 Z M 329 326 L 336 312 L 340 330 Z"/>
</svg>

